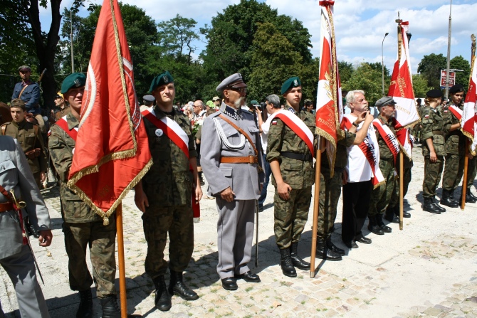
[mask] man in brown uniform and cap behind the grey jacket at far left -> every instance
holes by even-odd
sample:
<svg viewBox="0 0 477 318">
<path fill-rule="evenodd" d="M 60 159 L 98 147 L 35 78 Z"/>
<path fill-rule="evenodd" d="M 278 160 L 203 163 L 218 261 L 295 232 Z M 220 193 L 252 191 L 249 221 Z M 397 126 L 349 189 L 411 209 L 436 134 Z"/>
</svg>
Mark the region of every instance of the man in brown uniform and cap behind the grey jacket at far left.
<svg viewBox="0 0 477 318">
<path fill-rule="evenodd" d="M 38 125 L 25 120 L 25 102 L 17 98 L 10 104 L 12 122 L 1 125 L 1 134 L 16 139 L 25 153 L 38 189 L 46 180 L 46 154 Z"/>
</svg>

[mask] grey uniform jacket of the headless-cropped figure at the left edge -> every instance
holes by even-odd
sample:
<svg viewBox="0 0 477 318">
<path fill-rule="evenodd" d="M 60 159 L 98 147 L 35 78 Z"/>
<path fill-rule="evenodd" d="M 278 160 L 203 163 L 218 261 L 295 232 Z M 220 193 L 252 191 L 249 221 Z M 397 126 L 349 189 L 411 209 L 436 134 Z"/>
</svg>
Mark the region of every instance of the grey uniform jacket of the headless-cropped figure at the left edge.
<svg viewBox="0 0 477 318">
<path fill-rule="evenodd" d="M 0 136 L 0 184 L 6 191 L 14 189 L 17 200 L 25 201 L 23 218 L 37 230 L 50 228 L 50 216 L 36 186 L 30 166 L 19 144 L 9 136 Z M 8 199 L 0 194 L 0 203 Z M 0 212 L 0 260 L 19 253 L 22 236 L 18 214 L 15 211 Z"/>
</svg>

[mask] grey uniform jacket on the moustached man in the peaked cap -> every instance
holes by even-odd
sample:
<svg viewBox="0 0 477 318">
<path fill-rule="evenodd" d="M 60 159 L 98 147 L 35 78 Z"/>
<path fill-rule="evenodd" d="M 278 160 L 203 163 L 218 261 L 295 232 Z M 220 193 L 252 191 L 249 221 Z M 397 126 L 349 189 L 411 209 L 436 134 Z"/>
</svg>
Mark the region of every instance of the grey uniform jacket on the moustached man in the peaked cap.
<svg viewBox="0 0 477 318">
<path fill-rule="evenodd" d="M 251 137 L 258 149 L 258 164 L 263 167 L 260 137 L 258 136 L 258 128 L 253 121 L 253 115 L 246 110 L 235 112 L 231 107 L 222 104 L 221 110 L 206 117 L 202 126 L 201 166 L 209 182 L 209 191 L 217 196 L 230 186 L 234 191 L 236 200 L 254 200 L 260 196 L 259 184 L 263 184 L 265 174 L 263 172 L 258 173 L 257 164 L 221 164 L 221 157 L 254 156 L 255 152 L 248 141 L 241 149 L 226 147 L 226 144 L 217 134 L 214 119 L 219 121 L 226 139 L 232 146 L 240 144 L 241 134 L 229 123 L 219 118 L 219 114 L 227 116 L 229 120 L 241 127 Z"/>
</svg>

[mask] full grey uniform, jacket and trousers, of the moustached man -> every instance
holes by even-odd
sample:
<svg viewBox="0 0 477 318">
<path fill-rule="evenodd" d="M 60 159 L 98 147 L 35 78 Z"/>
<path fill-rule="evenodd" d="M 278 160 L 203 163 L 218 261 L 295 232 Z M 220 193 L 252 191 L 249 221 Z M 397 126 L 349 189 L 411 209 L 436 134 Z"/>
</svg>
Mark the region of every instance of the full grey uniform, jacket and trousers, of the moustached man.
<svg viewBox="0 0 477 318">
<path fill-rule="evenodd" d="M 219 118 L 220 114 L 226 115 L 231 122 L 241 127 L 251 137 L 259 152 L 258 164 L 260 165 L 262 165 L 263 156 L 258 139 L 258 128 L 250 112 L 234 110 L 222 104 L 220 112 L 206 117 L 202 127 L 202 140 L 206 141 L 201 146 L 202 170 L 209 181 L 209 192 L 216 197 L 217 211 L 219 211 L 217 272 L 220 278 L 224 279 L 249 270 L 247 263 L 251 260 L 253 211 L 255 200 L 260 196 L 260 184 L 263 183 L 264 174 L 258 173 L 257 164 L 221 163 L 221 157 L 247 157 L 255 153 L 247 140 L 242 147 L 234 147 L 241 144 L 241 134 Z M 232 147 L 227 147 L 226 142 L 219 137 L 217 127 L 223 129 L 223 136 Z M 232 202 L 227 202 L 220 196 L 221 191 L 229 187 L 235 194 L 235 200 Z"/>
</svg>

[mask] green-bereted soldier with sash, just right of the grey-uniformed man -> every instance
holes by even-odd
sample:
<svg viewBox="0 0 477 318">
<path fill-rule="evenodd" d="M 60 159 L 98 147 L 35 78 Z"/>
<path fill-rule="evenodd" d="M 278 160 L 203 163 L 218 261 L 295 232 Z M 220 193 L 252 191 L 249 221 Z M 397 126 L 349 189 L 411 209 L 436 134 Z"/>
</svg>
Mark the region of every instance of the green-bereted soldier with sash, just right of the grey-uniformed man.
<svg viewBox="0 0 477 318">
<path fill-rule="evenodd" d="M 315 137 L 315 116 L 300 109 L 300 79 L 286 80 L 281 93 L 286 100 L 284 110 L 302 120 Z M 270 162 L 275 186 L 274 228 L 281 253 L 281 269 L 283 275 L 296 277 L 295 267 L 310 270 L 310 264 L 298 256 L 297 250 L 311 203 L 311 186 L 315 179 L 313 156 L 303 139 L 276 117 L 268 132 L 266 159 Z"/>
</svg>

